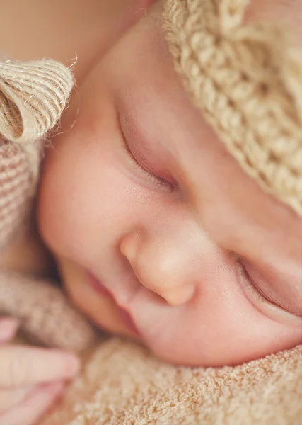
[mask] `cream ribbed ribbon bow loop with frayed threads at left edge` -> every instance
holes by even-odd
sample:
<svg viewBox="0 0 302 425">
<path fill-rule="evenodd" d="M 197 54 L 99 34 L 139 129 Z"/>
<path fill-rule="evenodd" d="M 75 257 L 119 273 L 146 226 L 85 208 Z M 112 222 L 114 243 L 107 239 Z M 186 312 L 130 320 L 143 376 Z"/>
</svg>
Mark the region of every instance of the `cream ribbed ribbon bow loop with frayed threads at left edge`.
<svg viewBox="0 0 302 425">
<path fill-rule="evenodd" d="M 54 127 L 74 79 L 54 60 L 0 62 L 0 133 L 12 142 L 33 142 Z"/>
</svg>

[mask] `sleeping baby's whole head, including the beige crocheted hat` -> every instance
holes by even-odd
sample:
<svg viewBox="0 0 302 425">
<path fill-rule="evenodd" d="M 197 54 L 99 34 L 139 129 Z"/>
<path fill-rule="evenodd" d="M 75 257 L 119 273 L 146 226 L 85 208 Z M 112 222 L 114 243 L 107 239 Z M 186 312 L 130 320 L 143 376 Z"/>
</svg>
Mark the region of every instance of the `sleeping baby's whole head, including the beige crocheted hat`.
<svg viewBox="0 0 302 425">
<path fill-rule="evenodd" d="M 294 347 L 302 6 L 151 3 L 87 73 L 45 152 L 43 242 L 93 324 L 168 363 Z"/>
</svg>

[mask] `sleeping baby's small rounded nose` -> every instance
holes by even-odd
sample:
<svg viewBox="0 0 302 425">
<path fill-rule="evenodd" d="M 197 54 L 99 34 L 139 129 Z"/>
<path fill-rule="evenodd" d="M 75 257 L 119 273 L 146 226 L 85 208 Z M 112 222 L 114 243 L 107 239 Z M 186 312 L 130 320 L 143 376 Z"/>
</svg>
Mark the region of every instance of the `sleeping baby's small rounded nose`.
<svg viewBox="0 0 302 425">
<path fill-rule="evenodd" d="M 191 300 L 195 285 L 185 276 L 187 268 L 177 250 L 155 246 L 136 233 L 122 239 L 120 251 L 141 285 L 160 295 L 168 305 L 182 305 Z"/>
</svg>

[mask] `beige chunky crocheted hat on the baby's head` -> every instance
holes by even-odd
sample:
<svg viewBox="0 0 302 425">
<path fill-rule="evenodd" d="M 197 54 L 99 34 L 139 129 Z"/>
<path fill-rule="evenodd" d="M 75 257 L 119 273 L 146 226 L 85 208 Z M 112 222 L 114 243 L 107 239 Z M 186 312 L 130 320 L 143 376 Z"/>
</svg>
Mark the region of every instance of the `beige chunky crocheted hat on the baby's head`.
<svg viewBox="0 0 302 425">
<path fill-rule="evenodd" d="M 290 28 L 243 23 L 248 0 L 167 0 L 165 30 L 195 105 L 240 166 L 302 215 L 302 55 Z"/>
</svg>

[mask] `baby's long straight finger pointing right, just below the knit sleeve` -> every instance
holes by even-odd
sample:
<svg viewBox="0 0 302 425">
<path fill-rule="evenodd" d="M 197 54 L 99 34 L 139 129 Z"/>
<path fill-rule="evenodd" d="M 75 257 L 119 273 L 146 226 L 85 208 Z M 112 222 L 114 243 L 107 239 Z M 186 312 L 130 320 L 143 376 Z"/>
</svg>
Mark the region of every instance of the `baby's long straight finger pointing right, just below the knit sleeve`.
<svg viewBox="0 0 302 425">
<path fill-rule="evenodd" d="M 74 378 L 79 359 L 49 348 L 0 346 L 0 387 L 14 388 Z"/>
</svg>

